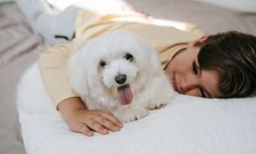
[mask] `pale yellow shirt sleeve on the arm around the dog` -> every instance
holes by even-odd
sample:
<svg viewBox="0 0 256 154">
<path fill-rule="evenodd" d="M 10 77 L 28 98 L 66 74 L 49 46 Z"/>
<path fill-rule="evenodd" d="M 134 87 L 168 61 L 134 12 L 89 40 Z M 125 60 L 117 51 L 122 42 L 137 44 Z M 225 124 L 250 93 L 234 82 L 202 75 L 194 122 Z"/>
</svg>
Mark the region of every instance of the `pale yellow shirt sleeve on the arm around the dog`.
<svg viewBox="0 0 256 154">
<path fill-rule="evenodd" d="M 79 97 L 72 90 L 68 79 L 67 60 L 71 55 L 71 43 L 53 46 L 40 55 L 39 68 L 42 80 L 56 107 L 65 99 Z"/>
</svg>

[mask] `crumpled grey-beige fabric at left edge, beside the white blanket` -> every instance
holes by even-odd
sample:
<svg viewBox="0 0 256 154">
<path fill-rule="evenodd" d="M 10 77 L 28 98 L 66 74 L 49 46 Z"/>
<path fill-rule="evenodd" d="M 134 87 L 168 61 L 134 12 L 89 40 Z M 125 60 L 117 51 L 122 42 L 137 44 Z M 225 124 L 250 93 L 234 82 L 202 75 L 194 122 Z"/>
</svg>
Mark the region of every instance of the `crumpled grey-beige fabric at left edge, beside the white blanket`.
<svg viewBox="0 0 256 154">
<path fill-rule="evenodd" d="M 15 107 L 20 74 L 45 50 L 15 3 L 0 3 L 0 153 L 25 153 Z"/>
</svg>

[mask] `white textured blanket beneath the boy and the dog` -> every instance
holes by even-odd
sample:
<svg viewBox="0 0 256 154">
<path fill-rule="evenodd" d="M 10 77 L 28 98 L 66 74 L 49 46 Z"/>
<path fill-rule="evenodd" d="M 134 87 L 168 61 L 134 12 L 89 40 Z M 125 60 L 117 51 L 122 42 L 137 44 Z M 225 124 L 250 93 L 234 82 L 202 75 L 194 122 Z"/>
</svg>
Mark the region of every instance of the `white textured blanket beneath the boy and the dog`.
<svg viewBox="0 0 256 154">
<path fill-rule="evenodd" d="M 119 132 L 86 137 L 71 132 L 44 90 L 37 64 L 17 89 L 22 137 L 30 153 L 255 153 L 256 99 L 178 95 L 163 109 Z M 51 109 L 49 109 L 51 108 Z"/>
</svg>

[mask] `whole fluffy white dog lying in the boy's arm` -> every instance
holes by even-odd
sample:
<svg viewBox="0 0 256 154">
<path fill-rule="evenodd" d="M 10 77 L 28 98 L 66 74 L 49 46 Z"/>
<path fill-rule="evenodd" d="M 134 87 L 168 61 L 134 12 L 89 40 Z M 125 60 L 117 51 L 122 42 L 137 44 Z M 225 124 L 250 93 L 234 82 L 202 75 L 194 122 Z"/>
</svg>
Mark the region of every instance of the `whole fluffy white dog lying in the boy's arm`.
<svg viewBox="0 0 256 154">
<path fill-rule="evenodd" d="M 111 112 L 122 122 L 147 116 L 175 94 L 154 48 L 128 31 L 88 41 L 68 60 L 68 73 L 89 109 Z"/>
</svg>

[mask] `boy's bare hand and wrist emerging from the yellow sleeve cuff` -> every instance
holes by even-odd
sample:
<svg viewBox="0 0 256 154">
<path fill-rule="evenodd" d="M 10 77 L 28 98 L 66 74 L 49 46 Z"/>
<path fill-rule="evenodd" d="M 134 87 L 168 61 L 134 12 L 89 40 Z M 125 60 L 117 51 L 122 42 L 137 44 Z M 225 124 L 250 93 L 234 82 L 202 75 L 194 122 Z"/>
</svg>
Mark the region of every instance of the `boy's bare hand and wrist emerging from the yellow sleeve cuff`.
<svg viewBox="0 0 256 154">
<path fill-rule="evenodd" d="M 57 109 L 74 132 L 93 136 L 92 130 L 100 134 L 116 132 L 123 127 L 122 123 L 111 113 L 99 110 L 88 110 L 80 97 L 70 97 L 61 101 Z"/>
</svg>

